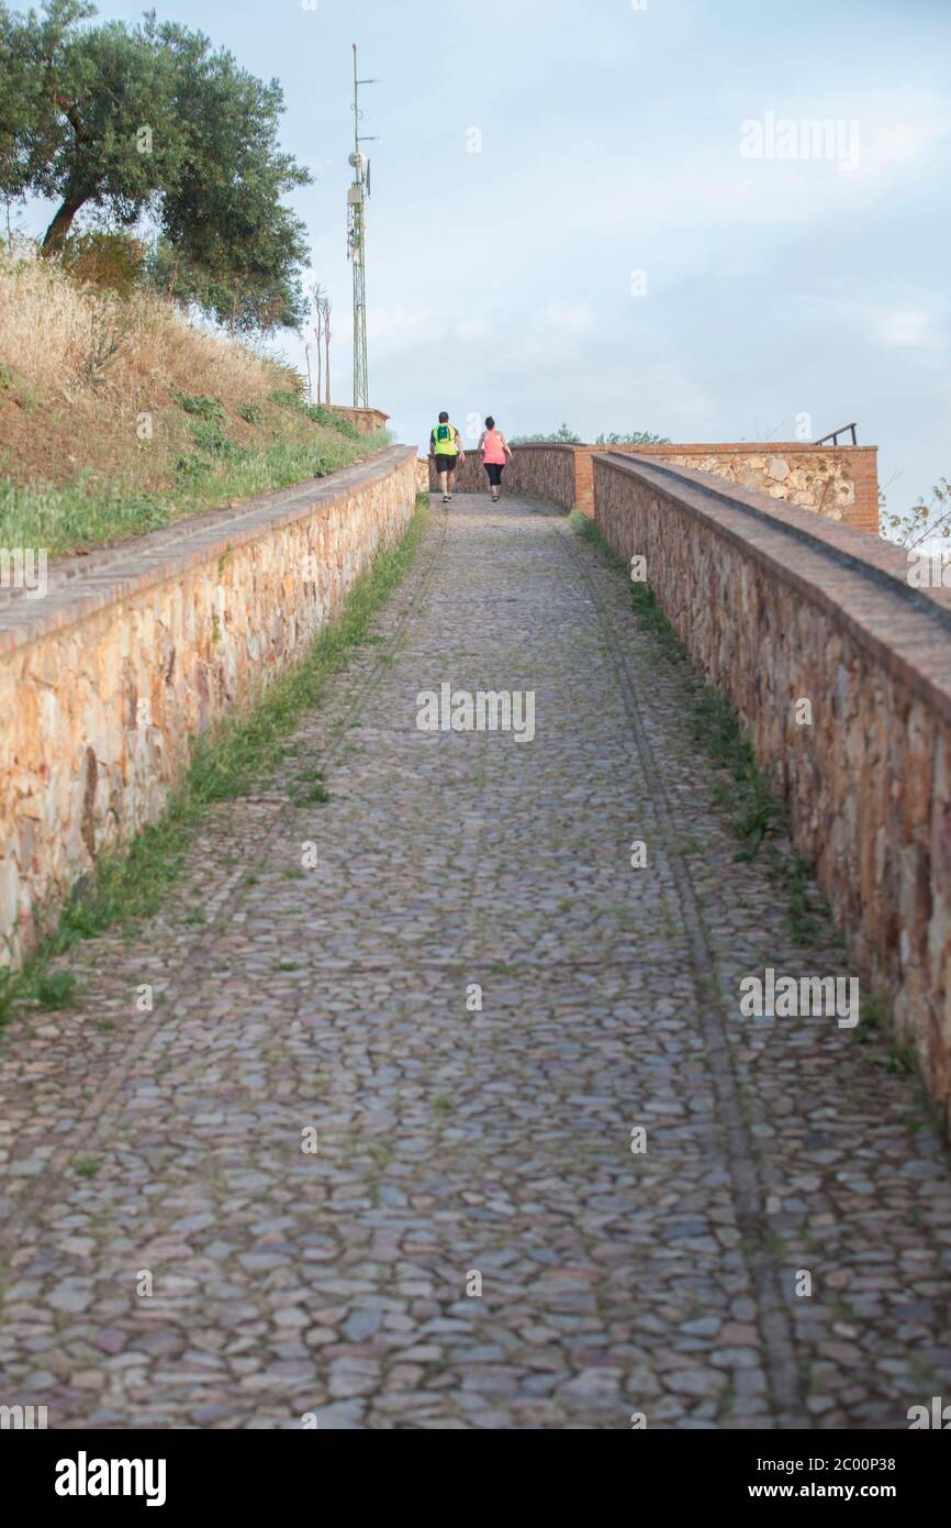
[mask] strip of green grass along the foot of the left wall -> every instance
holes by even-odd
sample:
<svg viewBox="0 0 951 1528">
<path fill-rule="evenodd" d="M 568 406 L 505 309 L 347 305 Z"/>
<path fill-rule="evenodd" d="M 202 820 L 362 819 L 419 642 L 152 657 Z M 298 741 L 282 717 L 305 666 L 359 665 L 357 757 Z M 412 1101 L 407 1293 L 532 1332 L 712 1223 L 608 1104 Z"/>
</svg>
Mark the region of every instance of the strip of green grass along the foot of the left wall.
<svg viewBox="0 0 951 1528">
<path fill-rule="evenodd" d="M 208 808 L 246 795 L 293 752 L 285 744 L 299 717 L 321 703 L 350 652 L 369 640 L 372 620 L 420 550 L 427 516 L 429 498 L 418 495 L 398 544 L 377 553 L 350 590 L 340 616 L 319 633 L 305 656 L 284 669 L 253 706 L 224 718 L 197 741 L 162 821 L 145 828 L 125 854 L 101 856 L 95 874 L 78 883 L 37 952 L 18 972 L 0 972 L 0 1036 L 14 1010 L 69 1007 L 75 976 L 53 970 L 52 963 L 81 940 L 114 926 L 131 931 L 153 917 L 182 877 L 194 828 Z M 308 790 L 328 799 L 319 781 Z"/>
</svg>

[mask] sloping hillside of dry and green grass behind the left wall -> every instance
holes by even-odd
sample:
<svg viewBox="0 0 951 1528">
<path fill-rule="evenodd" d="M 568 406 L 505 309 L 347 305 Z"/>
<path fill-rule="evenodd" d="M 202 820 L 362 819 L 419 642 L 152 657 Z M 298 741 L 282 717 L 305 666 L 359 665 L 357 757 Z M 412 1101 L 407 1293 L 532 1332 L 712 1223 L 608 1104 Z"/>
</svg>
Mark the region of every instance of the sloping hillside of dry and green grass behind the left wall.
<svg viewBox="0 0 951 1528">
<path fill-rule="evenodd" d="M 360 460 L 289 367 L 160 296 L 0 255 L 0 545 L 84 550 Z"/>
</svg>

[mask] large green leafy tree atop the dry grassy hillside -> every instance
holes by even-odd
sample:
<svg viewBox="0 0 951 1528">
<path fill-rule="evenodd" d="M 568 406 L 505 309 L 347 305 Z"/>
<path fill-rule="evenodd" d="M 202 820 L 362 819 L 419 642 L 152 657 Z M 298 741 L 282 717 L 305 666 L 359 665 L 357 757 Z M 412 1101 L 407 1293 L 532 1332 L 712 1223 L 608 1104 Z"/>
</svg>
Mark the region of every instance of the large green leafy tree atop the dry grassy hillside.
<svg viewBox="0 0 951 1528">
<path fill-rule="evenodd" d="M 81 209 L 119 228 L 147 215 L 171 295 L 232 327 L 296 324 L 305 229 L 281 199 L 311 177 L 278 147 L 281 86 L 154 11 L 134 28 L 95 14 L 0 0 L 0 194 L 58 203 L 46 252 Z"/>
</svg>

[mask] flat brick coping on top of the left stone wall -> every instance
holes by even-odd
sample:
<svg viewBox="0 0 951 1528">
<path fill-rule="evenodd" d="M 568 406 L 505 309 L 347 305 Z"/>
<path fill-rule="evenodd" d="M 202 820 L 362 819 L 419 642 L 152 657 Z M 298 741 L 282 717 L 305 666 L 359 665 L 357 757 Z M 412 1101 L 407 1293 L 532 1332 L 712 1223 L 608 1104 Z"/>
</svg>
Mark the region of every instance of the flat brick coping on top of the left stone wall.
<svg viewBox="0 0 951 1528">
<path fill-rule="evenodd" d="M 237 509 L 211 510 L 116 547 L 104 547 L 85 558 L 53 562 L 44 599 L 27 599 L 24 591 L 17 591 L 0 607 L 0 656 L 52 631 L 76 625 L 96 610 L 179 578 L 201 562 L 224 556 L 232 547 L 260 541 L 275 527 L 328 509 L 365 484 L 386 477 L 394 466 L 415 454 L 415 446 L 388 446 L 366 461 L 356 461 L 325 478 L 308 478 L 273 494 L 261 494 Z"/>
</svg>

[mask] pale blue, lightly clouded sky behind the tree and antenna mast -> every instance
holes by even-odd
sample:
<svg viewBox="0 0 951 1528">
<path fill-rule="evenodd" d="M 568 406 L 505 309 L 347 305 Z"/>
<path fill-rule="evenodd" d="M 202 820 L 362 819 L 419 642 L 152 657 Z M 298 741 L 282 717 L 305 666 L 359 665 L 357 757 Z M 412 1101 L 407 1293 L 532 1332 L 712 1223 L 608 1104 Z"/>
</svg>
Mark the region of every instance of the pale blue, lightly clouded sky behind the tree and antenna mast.
<svg viewBox="0 0 951 1528">
<path fill-rule="evenodd" d="M 380 81 L 362 101 L 369 400 L 398 439 L 424 445 L 441 408 L 464 437 L 487 413 L 585 440 L 855 420 L 888 510 L 951 475 L 951 0 L 156 8 L 284 87 L 334 402 L 353 400 L 357 41 Z M 273 348 L 302 365 L 295 336 Z"/>
</svg>

